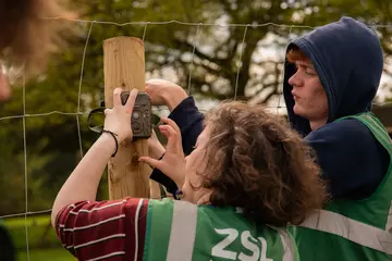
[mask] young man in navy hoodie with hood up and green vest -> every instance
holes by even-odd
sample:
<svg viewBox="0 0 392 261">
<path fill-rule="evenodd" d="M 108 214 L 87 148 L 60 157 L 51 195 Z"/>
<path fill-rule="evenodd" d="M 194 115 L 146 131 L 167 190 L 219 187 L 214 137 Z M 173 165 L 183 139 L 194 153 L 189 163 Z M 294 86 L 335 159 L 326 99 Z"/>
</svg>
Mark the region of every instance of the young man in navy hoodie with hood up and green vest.
<svg viewBox="0 0 392 261">
<path fill-rule="evenodd" d="M 331 195 L 323 210 L 292 229 L 302 260 L 392 256 L 392 144 L 371 113 L 382 70 L 377 35 L 351 17 L 287 46 L 283 95 L 289 121 L 315 150 Z M 204 119 L 193 97 L 166 80 L 147 82 L 146 90 L 155 104 L 169 105 L 189 153 Z M 150 140 L 150 151 L 156 158 L 164 153 L 157 140 Z M 154 170 L 151 178 L 158 176 L 164 175 Z"/>
</svg>

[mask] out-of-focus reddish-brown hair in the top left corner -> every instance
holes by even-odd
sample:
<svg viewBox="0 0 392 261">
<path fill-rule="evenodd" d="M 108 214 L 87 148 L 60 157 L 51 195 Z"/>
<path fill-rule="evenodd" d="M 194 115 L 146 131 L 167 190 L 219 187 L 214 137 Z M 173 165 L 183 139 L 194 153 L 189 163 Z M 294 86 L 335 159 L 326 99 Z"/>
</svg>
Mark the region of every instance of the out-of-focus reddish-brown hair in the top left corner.
<svg viewBox="0 0 392 261">
<path fill-rule="evenodd" d="M 52 17 L 76 14 L 66 0 L 0 0 L 0 59 L 10 67 L 24 65 L 26 76 L 41 73 L 49 53 L 75 33 L 75 26 Z"/>
</svg>

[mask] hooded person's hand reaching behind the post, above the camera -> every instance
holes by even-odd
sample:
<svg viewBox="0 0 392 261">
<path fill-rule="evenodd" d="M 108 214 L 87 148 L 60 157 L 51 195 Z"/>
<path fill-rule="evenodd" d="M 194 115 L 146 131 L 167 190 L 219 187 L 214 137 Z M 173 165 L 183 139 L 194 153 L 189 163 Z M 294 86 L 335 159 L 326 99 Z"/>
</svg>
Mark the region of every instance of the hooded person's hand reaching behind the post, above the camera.
<svg viewBox="0 0 392 261">
<path fill-rule="evenodd" d="M 170 111 L 187 97 L 181 86 L 164 79 L 147 80 L 146 92 L 151 98 L 152 105 L 167 105 Z"/>
</svg>

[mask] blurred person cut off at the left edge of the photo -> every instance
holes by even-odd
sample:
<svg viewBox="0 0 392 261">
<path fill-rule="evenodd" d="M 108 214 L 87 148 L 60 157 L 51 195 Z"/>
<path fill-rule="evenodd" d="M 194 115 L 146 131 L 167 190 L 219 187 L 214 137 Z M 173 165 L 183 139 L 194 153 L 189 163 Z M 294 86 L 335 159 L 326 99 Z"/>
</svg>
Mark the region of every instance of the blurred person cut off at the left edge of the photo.
<svg viewBox="0 0 392 261">
<path fill-rule="evenodd" d="M 49 54 L 58 51 L 73 32 L 66 23 L 47 17 L 74 18 L 76 15 L 68 1 L 0 0 L 0 102 L 12 95 L 10 69 L 16 72 L 12 75 L 14 79 L 42 73 Z M 0 225 L 0 260 L 16 260 L 14 243 L 3 224 Z"/>
</svg>

